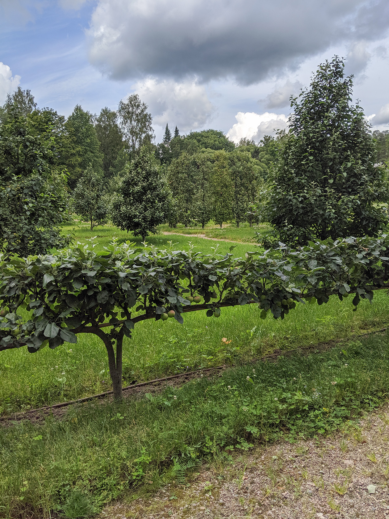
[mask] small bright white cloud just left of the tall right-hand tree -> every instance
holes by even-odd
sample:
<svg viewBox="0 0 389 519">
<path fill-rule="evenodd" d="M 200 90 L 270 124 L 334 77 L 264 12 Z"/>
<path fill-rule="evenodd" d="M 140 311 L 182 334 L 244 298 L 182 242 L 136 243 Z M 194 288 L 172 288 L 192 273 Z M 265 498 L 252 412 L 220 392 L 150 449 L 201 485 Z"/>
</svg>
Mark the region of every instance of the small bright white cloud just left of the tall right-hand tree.
<svg viewBox="0 0 389 519">
<path fill-rule="evenodd" d="M 235 119 L 238 122 L 227 133 L 227 137 L 235 143 L 243 138 L 258 142 L 265 135 L 274 134 L 277 130 L 286 130 L 288 126 L 288 116 L 269 112 L 238 112 Z"/>
</svg>

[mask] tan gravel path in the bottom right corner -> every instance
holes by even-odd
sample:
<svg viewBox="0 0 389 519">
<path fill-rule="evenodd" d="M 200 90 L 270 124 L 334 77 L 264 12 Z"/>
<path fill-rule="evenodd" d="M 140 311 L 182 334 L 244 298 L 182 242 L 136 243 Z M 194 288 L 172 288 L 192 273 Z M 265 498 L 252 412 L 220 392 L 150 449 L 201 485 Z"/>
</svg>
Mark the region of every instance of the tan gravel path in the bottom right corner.
<svg viewBox="0 0 389 519">
<path fill-rule="evenodd" d="M 318 440 L 260 446 L 213 462 L 101 519 L 389 519 L 389 404 Z"/>
</svg>

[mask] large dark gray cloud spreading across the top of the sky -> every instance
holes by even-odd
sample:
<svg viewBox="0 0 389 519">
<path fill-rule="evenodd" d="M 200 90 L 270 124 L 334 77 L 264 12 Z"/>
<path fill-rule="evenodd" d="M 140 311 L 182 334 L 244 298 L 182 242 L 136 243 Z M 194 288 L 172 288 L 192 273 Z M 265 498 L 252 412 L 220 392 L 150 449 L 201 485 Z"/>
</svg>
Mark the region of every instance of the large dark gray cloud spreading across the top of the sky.
<svg viewBox="0 0 389 519">
<path fill-rule="evenodd" d="M 376 40 L 388 21 L 387 0 L 99 0 L 90 60 L 116 79 L 248 85 L 332 45 Z"/>
</svg>

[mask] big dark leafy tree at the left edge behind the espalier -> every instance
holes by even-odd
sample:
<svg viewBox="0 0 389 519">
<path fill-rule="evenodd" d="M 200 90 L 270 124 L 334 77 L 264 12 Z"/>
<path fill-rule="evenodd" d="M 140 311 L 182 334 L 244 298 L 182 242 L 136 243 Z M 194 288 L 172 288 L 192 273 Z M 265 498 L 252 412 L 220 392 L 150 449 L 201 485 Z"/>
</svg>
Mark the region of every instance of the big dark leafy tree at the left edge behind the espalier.
<svg viewBox="0 0 389 519">
<path fill-rule="evenodd" d="M 50 145 L 29 121 L 9 111 L 0 126 L 0 250 L 7 255 L 62 247 L 59 224 L 66 200 L 53 181 Z M 66 183 L 66 176 L 57 180 Z"/>
</svg>

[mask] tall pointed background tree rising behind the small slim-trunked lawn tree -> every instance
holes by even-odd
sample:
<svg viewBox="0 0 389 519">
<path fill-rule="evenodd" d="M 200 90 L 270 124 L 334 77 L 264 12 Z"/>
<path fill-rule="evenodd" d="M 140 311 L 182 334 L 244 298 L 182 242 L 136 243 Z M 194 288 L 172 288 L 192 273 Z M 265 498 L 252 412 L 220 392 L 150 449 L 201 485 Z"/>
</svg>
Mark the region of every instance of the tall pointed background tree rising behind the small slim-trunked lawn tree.
<svg viewBox="0 0 389 519">
<path fill-rule="evenodd" d="M 89 112 L 77 105 L 65 123 L 68 135 L 68 148 L 64 150 L 63 158 L 69 172 L 69 184 L 75 187 L 81 174 L 91 164 L 93 171 L 103 173 L 103 154 L 100 152 L 100 142 Z"/>
</svg>

